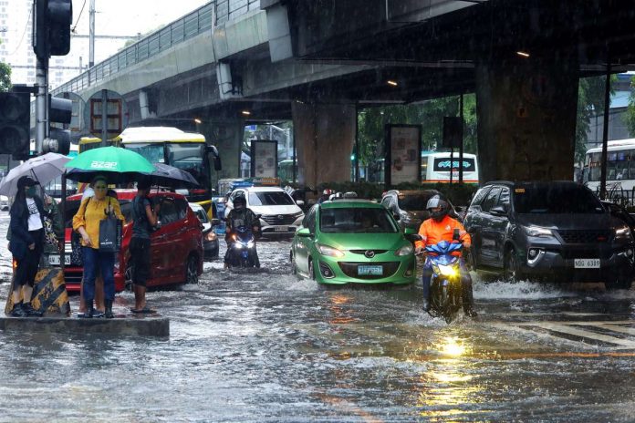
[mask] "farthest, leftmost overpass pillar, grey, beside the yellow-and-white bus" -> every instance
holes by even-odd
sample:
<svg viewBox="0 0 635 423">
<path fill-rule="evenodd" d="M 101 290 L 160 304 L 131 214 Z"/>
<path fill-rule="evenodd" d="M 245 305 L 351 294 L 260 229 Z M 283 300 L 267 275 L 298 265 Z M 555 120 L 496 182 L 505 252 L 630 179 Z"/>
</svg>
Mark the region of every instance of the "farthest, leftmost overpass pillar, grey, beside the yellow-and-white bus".
<svg viewBox="0 0 635 423">
<path fill-rule="evenodd" d="M 239 178 L 245 121 L 203 121 L 197 126 L 197 130 L 205 136 L 208 144 L 216 146 L 223 162 L 223 170 L 212 169 L 212 187 L 216 186 L 218 180 Z"/>
</svg>

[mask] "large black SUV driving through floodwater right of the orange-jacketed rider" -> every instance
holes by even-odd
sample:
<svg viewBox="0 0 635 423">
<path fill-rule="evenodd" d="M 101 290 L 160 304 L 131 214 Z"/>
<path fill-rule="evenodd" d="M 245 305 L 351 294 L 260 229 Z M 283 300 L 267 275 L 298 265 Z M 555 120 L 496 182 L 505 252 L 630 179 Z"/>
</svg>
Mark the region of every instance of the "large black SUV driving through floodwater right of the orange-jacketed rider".
<svg viewBox="0 0 635 423">
<path fill-rule="evenodd" d="M 548 277 L 628 289 L 635 242 L 627 224 L 576 182 L 495 181 L 465 216 L 475 269 L 507 280 Z"/>
</svg>

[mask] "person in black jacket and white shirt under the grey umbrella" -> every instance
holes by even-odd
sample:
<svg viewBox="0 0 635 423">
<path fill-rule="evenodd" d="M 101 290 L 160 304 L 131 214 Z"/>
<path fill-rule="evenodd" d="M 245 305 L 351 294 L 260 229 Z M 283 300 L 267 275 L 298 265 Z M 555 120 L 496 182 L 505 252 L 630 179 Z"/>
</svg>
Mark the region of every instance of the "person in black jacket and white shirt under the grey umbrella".
<svg viewBox="0 0 635 423">
<path fill-rule="evenodd" d="M 11 315 L 16 317 L 42 315 L 31 306 L 37 267 L 44 249 L 45 211 L 42 200 L 36 196 L 37 184 L 38 182 L 29 176 L 21 177 L 17 181 L 16 199 L 9 211 L 9 251 L 17 262 L 13 285 L 14 308 Z"/>
</svg>

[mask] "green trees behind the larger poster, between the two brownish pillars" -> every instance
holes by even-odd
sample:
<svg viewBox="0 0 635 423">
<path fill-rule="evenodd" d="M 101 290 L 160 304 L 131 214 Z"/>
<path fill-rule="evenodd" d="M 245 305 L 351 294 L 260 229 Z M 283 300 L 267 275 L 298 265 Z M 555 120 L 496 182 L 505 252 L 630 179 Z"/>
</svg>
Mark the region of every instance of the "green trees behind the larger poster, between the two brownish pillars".
<svg viewBox="0 0 635 423">
<path fill-rule="evenodd" d="M 422 104 L 366 108 L 358 114 L 359 163 L 368 166 L 384 157 L 384 127 L 422 125 L 422 150 L 436 150 L 443 138 L 443 117 L 459 115 L 459 97 L 435 98 Z M 464 151 L 476 152 L 476 96 L 463 96 Z"/>
</svg>

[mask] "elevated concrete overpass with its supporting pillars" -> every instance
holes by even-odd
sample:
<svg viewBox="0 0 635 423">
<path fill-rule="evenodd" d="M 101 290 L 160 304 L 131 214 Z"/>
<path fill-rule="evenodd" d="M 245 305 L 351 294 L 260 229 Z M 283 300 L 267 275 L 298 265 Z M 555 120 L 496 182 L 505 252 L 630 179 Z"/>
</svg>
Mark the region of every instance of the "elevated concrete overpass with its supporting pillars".
<svg viewBox="0 0 635 423">
<path fill-rule="evenodd" d="M 55 93 L 118 91 L 132 125 L 202 119 L 222 177 L 245 121 L 293 119 L 313 185 L 348 179 L 357 108 L 475 92 L 484 179 L 571 179 L 578 78 L 630 69 L 634 24 L 609 0 L 216 0 Z"/>
</svg>

